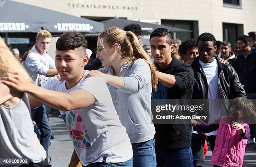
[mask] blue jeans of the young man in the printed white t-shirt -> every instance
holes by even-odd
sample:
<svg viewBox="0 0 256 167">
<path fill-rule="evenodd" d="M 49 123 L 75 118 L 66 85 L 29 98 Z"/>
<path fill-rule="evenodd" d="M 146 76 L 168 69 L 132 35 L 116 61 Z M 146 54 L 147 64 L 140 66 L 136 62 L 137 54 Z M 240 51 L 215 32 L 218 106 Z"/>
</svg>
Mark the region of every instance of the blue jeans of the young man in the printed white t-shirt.
<svg viewBox="0 0 256 167">
<path fill-rule="evenodd" d="M 133 158 L 125 162 L 117 162 L 117 163 L 95 162 L 93 164 L 88 164 L 87 166 L 82 165 L 82 167 L 132 167 L 132 166 L 133 166 Z"/>
</svg>

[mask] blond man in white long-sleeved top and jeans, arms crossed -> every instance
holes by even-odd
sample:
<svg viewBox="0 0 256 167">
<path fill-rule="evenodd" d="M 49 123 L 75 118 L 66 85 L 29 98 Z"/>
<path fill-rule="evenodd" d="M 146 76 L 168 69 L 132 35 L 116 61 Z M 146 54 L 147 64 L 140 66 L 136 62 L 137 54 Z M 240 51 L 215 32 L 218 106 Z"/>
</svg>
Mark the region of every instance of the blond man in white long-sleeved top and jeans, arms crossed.
<svg viewBox="0 0 256 167">
<path fill-rule="evenodd" d="M 31 49 L 26 60 L 22 62 L 27 73 L 37 85 L 41 86 L 49 77 L 58 74 L 54 60 L 46 53 L 51 43 L 51 33 L 46 30 L 38 31 L 36 35 L 36 45 Z M 40 130 L 40 143 L 46 150 L 48 156 L 48 148 L 51 137 L 51 126 L 46 115 L 44 105 L 31 108 L 31 117 L 36 122 L 36 126 Z"/>
</svg>

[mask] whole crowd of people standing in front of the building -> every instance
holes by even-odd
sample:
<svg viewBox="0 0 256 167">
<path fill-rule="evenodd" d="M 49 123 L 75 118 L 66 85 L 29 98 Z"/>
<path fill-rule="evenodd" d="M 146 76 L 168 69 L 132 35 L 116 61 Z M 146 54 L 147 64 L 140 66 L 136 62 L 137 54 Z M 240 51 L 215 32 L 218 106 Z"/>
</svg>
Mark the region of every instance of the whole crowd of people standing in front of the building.
<svg viewBox="0 0 256 167">
<path fill-rule="evenodd" d="M 242 167 L 256 138 L 256 32 L 248 35 L 233 52 L 211 33 L 181 42 L 157 28 L 143 46 L 132 24 L 100 33 L 89 58 L 84 35 L 69 32 L 56 42 L 55 62 L 46 30 L 20 57 L 0 38 L 0 158 L 50 166 L 50 106 L 72 139 L 69 167 L 202 167 L 206 141 L 214 167 Z M 194 114 L 207 117 L 154 124 L 156 99 L 200 101 Z"/>
</svg>

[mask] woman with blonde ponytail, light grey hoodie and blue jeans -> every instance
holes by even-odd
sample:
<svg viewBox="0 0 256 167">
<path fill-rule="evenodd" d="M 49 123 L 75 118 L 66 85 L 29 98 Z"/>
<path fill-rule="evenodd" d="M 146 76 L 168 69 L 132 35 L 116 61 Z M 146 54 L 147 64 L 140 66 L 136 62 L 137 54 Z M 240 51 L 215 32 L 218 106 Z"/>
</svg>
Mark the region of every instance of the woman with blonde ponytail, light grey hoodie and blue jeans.
<svg viewBox="0 0 256 167">
<path fill-rule="evenodd" d="M 136 35 L 116 27 L 99 35 L 96 57 L 105 68 L 91 71 L 88 77 L 105 79 L 133 146 L 133 167 L 155 167 L 151 92 L 152 88 L 156 89 L 158 80 L 154 64 Z"/>
</svg>

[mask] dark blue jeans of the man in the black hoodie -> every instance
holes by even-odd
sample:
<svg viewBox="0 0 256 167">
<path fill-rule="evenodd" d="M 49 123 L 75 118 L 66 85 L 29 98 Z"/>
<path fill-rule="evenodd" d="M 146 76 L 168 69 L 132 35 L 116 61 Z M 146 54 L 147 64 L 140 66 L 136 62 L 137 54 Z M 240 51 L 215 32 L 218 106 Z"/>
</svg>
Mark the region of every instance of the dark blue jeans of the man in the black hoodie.
<svg viewBox="0 0 256 167">
<path fill-rule="evenodd" d="M 193 167 L 191 147 L 163 150 L 156 147 L 157 167 Z"/>
</svg>

